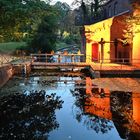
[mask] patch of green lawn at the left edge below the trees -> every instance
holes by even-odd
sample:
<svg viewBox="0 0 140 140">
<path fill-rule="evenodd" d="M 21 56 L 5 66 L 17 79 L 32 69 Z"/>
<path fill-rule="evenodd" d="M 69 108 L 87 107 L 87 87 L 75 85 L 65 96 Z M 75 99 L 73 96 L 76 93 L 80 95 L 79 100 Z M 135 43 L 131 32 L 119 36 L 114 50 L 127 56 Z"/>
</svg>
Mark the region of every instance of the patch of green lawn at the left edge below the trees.
<svg viewBox="0 0 140 140">
<path fill-rule="evenodd" d="M 0 53 L 13 54 L 16 49 L 26 46 L 26 42 L 0 43 Z"/>
</svg>

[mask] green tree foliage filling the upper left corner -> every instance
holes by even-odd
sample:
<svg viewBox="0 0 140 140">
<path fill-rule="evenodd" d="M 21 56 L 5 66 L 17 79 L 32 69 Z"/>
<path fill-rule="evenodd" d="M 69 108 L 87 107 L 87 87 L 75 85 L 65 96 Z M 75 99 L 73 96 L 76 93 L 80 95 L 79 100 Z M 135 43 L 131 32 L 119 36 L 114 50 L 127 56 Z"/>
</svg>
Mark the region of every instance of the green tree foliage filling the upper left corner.
<svg viewBox="0 0 140 140">
<path fill-rule="evenodd" d="M 31 36 L 46 10 L 47 4 L 40 0 L 0 0 L 0 35 L 6 41 Z"/>
</svg>

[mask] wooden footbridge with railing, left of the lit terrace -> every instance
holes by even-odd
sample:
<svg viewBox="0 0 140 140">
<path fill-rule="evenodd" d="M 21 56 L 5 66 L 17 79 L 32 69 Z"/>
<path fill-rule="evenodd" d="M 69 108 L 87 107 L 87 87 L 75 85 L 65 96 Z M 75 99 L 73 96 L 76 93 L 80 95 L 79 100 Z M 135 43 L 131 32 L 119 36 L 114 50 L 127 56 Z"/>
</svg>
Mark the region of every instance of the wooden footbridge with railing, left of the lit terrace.
<svg viewBox="0 0 140 140">
<path fill-rule="evenodd" d="M 88 66 L 84 54 L 31 54 L 32 69 L 80 68 Z"/>
</svg>

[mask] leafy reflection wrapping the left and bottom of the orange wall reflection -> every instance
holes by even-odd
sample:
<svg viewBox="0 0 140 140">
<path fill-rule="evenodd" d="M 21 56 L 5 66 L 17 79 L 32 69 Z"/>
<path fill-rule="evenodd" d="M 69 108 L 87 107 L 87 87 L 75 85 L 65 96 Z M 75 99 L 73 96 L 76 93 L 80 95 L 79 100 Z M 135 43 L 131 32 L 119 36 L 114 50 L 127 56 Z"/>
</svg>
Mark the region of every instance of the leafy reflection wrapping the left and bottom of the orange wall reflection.
<svg viewBox="0 0 140 140">
<path fill-rule="evenodd" d="M 83 122 L 83 124 L 88 129 L 92 129 L 96 133 L 101 132 L 102 134 L 105 134 L 113 128 L 109 120 L 85 112 L 85 106 L 92 106 L 90 104 L 89 97 L 86 94 L 85 89 L 76 89 L 75 91 L 71 91 L 71 93 L 76 98 L 75 118 L 78 122 Z"/>
</svg>

